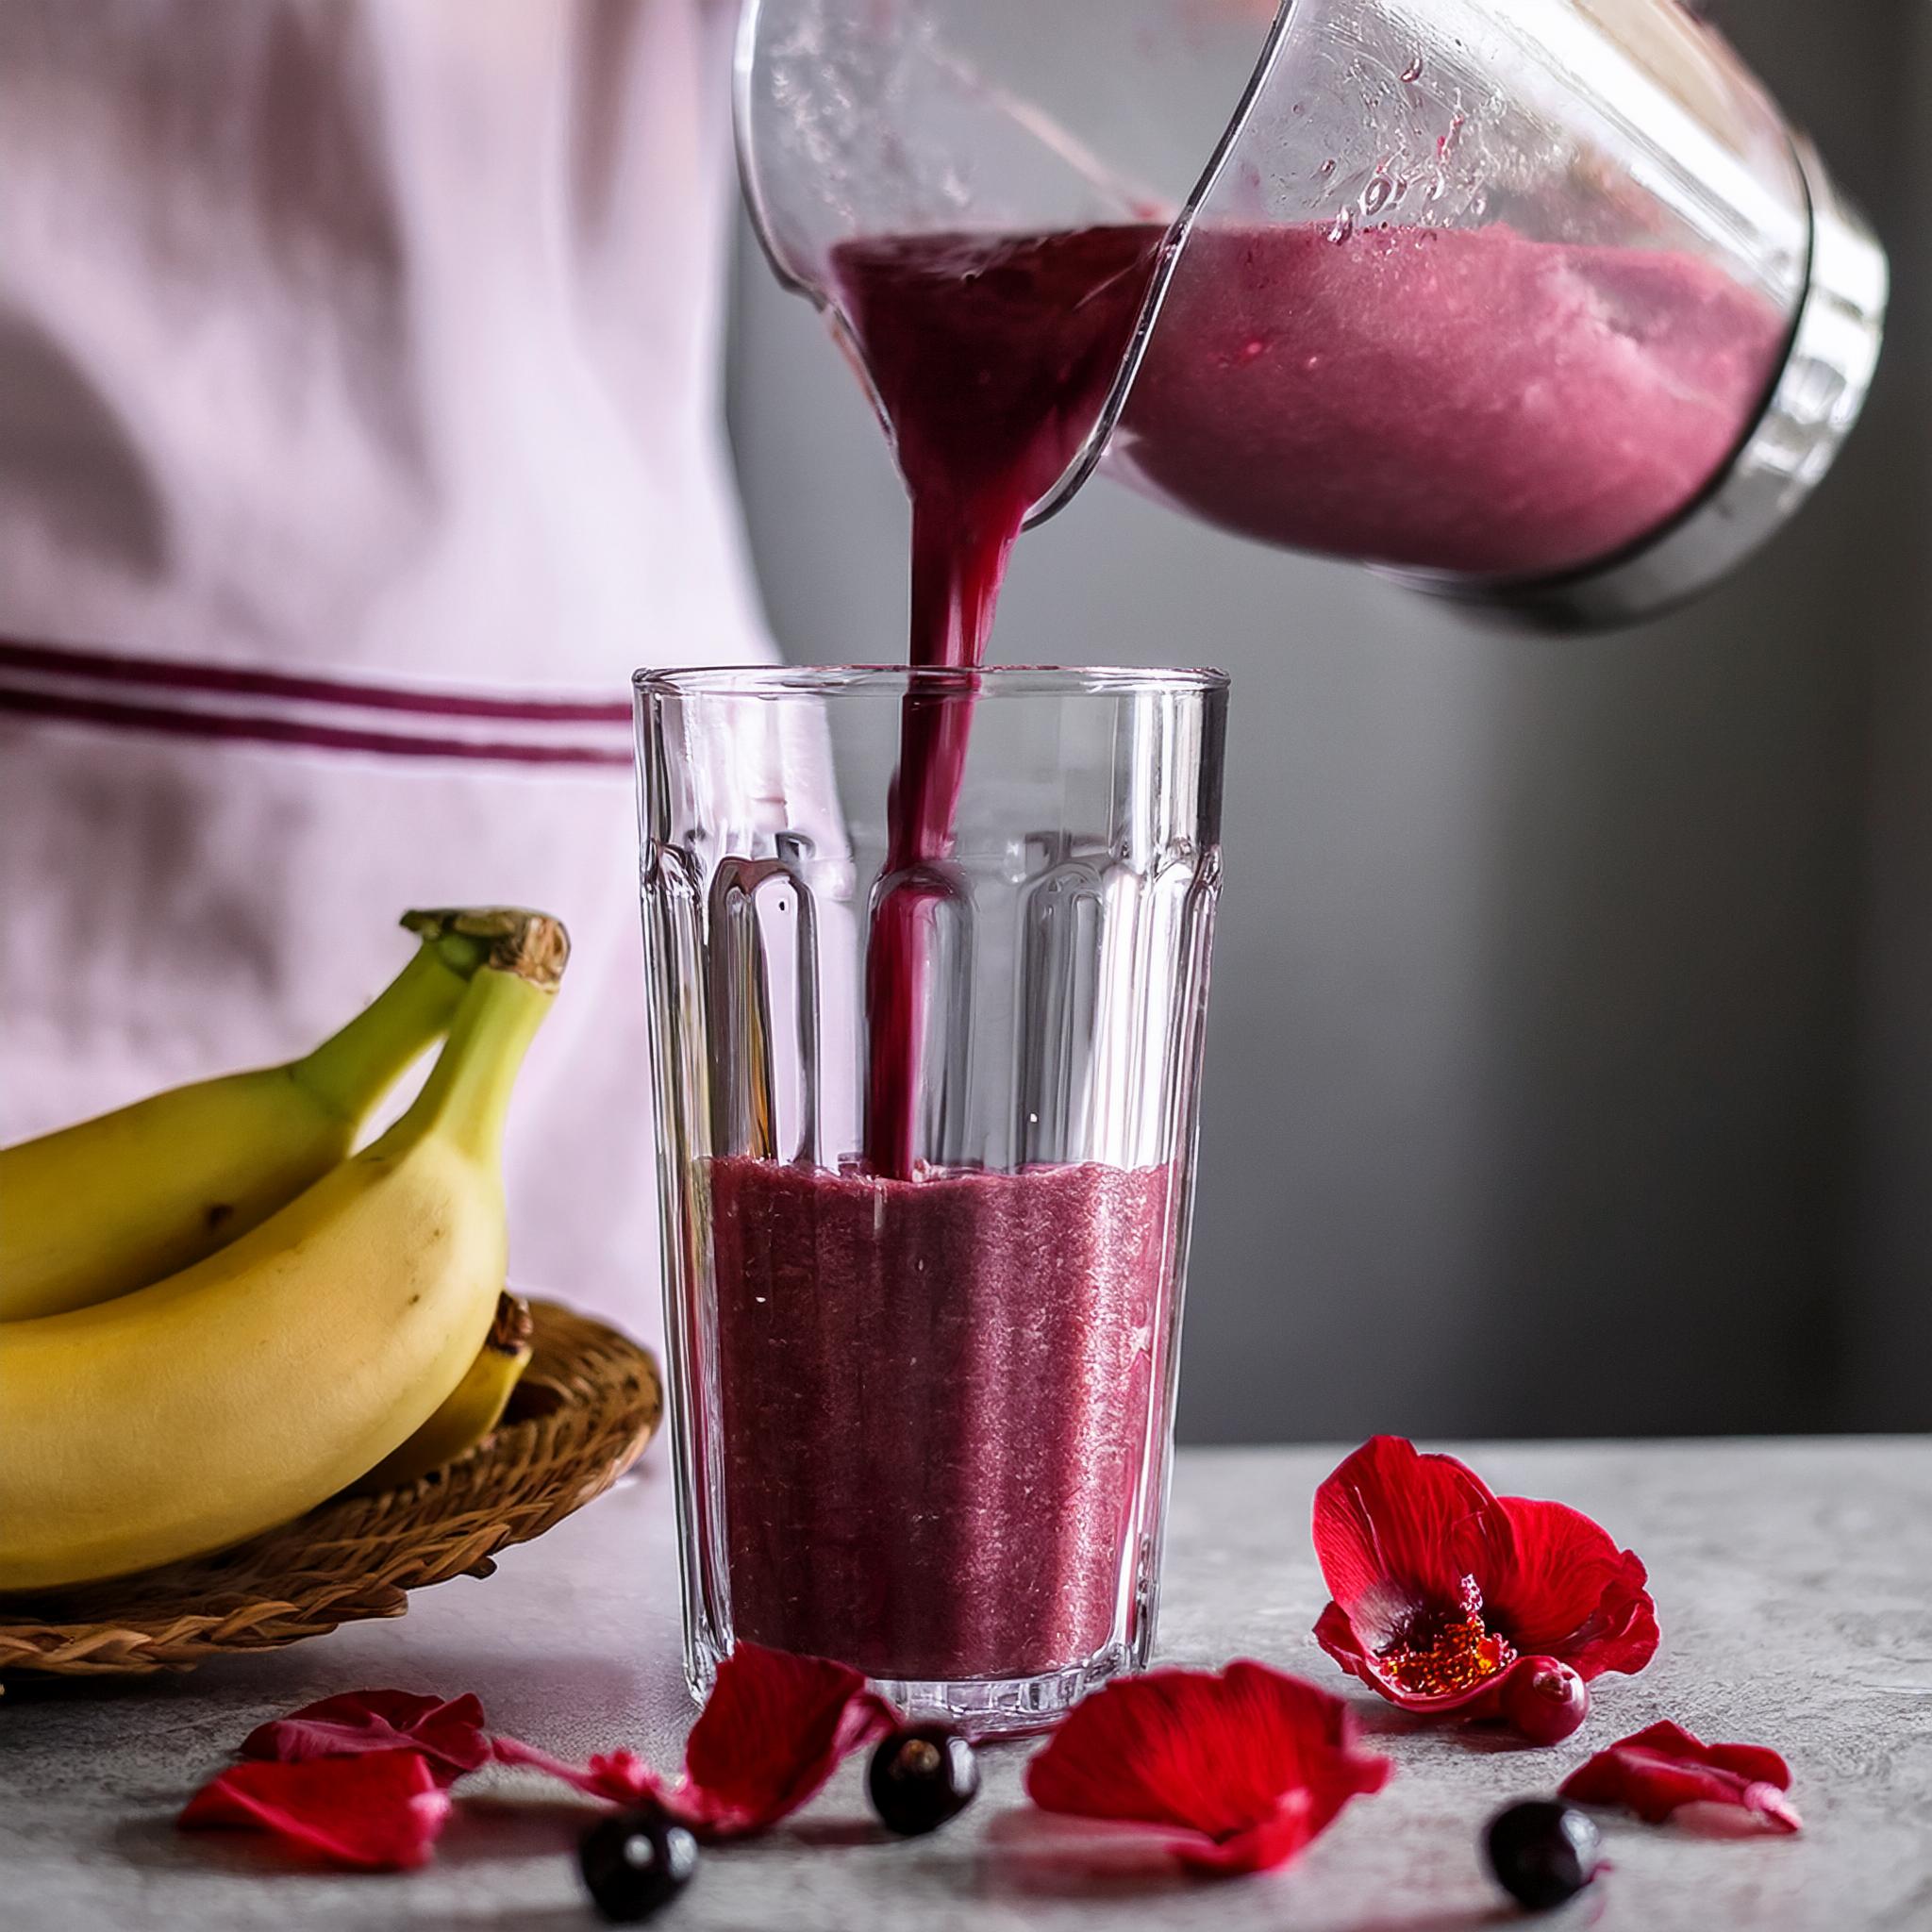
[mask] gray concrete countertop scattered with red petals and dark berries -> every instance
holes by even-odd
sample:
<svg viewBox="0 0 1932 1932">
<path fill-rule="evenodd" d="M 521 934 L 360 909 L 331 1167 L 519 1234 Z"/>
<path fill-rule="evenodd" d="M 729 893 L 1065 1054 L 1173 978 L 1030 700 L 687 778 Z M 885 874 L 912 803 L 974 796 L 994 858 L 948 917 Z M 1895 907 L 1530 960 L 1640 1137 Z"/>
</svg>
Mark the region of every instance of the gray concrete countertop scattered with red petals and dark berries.
<svg viewBox="0 0 1932 1932">
<path fill-rule="evenodd" d="M 1308 1631 L 1325 1592 L 1308 1501 L 1327 1451 L 1180 1457 L 1161 1650 L 1182 1663 L 1256 1656 L 1354 1696 L 1399 1762 L 1285 1870 L 1235 1882 L 1092 1880 L 1028 1855 L 1026 1745 L 987 1752 L 980 1803 L 935 1837 L 867 1826 L 848 1764 L 788 1828 L 707 1853 L 661 1924 L 856 1932 L 1213 1928 L 1468 1932 L 1515 1915 L 1486 1882 L 1488 1812 L 1548 1791 L 1656 1718 L 1774 1745 L 1804 1833 L 1698 1839 L 1605 1822 L 1615 1870 L 1551 1924 L 1602 1932 L 1932 1928 L 1932 1443 L 1515 1445 L 1468 1451 L 1505 1493 L 1555 1495 L 1650 1565 L 1658 1662 L 1607 1677 L 1584 1731 L 1497 1750 L 1416 1731 L 1358 1692 Z M 388 1932 L 595 1920 L 568 1849 L 583 1812 L 506 1774 L 458 1806 L 413 1874 L 292 1870 L 242 1833 L 172 1818 L 259 1719 L 357 1687 L 475 1690 L 491 1721 L 583 1756 L 620 1743 L 674 1766 L 692 1710 L 678 1673 L 665 1461 L 487 1582 L 417 1596 L 359 1625 L 189 1677 L 0 1698 L 0 1926 L 6 1932 Z M 468 1787 L 466 1787 L 468 1789 Z"/>
</svg>

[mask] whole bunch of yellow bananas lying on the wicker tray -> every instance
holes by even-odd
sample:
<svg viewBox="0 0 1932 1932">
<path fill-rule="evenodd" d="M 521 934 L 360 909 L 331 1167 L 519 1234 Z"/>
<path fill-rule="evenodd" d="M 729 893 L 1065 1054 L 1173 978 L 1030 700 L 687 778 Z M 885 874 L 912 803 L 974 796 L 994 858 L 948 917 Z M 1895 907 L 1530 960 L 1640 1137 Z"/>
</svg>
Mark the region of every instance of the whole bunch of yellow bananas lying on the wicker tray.
<svg viewBox="0 0 1932 1932">
<path fill-rule="evenodd" d="M 512 1320 L 487 1347 L 502 1121 L 568 941 L 543 914 L 404 923 L 423 951 L 305 1061 L 0 1153 L 0 1590 L 220 1549 L 495 1426 L 527 1343 Z M 344 1157 L 444 1026 L 408 1113 Z M 97 1271 L 60 1186 L 100 1208 Z"/>
</svg>

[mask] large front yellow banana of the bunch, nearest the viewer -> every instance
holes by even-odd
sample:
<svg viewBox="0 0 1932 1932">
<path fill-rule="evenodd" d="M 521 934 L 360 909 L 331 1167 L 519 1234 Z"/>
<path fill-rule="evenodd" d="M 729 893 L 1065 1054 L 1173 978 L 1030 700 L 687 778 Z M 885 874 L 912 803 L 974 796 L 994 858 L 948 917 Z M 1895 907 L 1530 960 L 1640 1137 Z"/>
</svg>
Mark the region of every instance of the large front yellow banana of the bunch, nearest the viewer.
<svg viewBox="0 0 1932 1932">
<path fill-rule="evenodd" d="M 95 1308 L 0 1323 L 0 1590 L 201 1555 L 301 1515 L 464 1379 L 506 1269 L 498 1148 L 564 956 L 483 966 L 410 1111 L 261 1227 Z"/>
</svg>

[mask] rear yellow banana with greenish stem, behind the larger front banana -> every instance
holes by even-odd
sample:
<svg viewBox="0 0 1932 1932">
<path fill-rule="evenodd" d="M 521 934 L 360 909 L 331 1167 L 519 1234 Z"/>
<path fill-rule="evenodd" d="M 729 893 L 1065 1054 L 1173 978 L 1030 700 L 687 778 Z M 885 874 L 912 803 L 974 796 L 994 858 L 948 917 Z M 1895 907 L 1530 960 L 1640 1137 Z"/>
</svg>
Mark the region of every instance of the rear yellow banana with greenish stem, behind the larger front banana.
<svg viewBox="0 0 1932 1932">
<path fill-rule="evenodd" d="M 197 1080 L 0 1150 L 0 1321 L 178 1273 L 327 1175 L 450 1024 L 491 918 L 406 914 L 423 939 L 415 958 L 299 1061 Z"/>
</svg>

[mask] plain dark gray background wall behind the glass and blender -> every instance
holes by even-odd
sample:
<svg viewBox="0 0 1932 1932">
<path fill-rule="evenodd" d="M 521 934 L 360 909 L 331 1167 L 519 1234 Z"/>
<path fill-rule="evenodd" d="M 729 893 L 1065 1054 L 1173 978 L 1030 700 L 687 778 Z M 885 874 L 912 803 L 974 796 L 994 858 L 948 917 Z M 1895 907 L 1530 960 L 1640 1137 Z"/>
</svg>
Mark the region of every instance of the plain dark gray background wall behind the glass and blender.
<svg viewBox="0 0 1932 1932">
<path fill-rule="evenodd" d="M 1932 1424 L 1932 10 L 1737 0 L 1893 245 L 1866 421 L 1696 611 L 1484 634 L 1094 485 L 995 651 L 1235 676 L 1192 1439 Z M 773 626 L 895 657 L 906 516 L 746 243 Z"/>
</svg>

